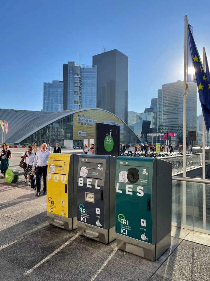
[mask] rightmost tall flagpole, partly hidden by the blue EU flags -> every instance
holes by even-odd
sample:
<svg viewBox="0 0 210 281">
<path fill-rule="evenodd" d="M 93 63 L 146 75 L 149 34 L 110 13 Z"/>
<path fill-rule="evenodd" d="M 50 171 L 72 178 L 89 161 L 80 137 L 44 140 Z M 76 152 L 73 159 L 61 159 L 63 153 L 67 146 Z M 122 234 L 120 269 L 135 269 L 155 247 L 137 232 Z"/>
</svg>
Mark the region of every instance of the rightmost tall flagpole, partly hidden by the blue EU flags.
<svg viewBox="0 0 210 281">
<path fill-rule="evenodd" d="M 205 65 L 205 48 L 203 47 L 203 70 L 206 71 L 206 65 Z M 203 112 L 202 112 L 203 116 Z M 205 122 L 204 117 L 202 117 L 202 171 L 203 171 L 203 179 L 205 180 Z M 205 195 L 205 184 L 202 184 L 202 193 L 203 193 L 203 229 L 206 229 L 206 195 Z"/>
</svg>

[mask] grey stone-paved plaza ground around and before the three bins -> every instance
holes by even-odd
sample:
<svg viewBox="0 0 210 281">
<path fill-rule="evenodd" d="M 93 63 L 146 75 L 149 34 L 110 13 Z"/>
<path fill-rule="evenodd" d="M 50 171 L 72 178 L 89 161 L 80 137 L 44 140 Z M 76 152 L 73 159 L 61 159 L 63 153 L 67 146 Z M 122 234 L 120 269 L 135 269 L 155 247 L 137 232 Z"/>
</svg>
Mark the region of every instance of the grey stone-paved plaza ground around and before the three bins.
<svg viewBox="0 0 210 281">
<path fill-rule="evenodd" d="M 19 170 L 19 181 L 0 178 L 0 280 L 210 280 L 207 234 L 172 226 L 171 247 L 152 262 L 118 250 L 116 240 L 104 245 L 79 236 L 77 229 L 49 225 L 47 197 L 37 198 L 24 182 L 23 151 L 11 149 L 9 168 Z"/>
</svg>

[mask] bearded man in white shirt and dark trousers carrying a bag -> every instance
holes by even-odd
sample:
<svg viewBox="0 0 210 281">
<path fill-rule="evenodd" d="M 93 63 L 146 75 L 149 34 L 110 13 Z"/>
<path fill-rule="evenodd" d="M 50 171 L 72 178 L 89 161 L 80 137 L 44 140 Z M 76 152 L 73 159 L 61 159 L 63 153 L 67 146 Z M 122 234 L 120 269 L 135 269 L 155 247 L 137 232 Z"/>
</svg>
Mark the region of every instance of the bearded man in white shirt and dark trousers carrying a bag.
<svg viewBox="0 0 210 281">
<path fill-rule="evenodd" d="M 41 150 L 39 150 L 35 156 L 32 172 L 34 172 L 34 168 L 37 164 L 37 172 L 36 172 L 36 184 L 37 184 L 37 193 L 36 196 L 41 195 L 41 176 L 43 175 L 43 195 L 47 194 L 47 185 L 46 185 L 46 179 L 47 179 L 47 165 L 48 165 L 48 157 L 50 152 L 46 149 L 46 143 L 43 143 L 41 145 Z"/>
</svg>

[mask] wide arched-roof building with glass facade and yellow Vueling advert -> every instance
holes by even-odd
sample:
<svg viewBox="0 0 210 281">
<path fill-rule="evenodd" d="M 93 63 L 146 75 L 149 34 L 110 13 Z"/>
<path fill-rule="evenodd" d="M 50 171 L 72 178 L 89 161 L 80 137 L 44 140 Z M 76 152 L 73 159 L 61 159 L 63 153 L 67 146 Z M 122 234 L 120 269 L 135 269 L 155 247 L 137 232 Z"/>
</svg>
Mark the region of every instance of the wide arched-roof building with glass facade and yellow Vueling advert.
<svg viewBox="0 0 210 281">
<path fill-rule="evenodd" d="M 135 133 L 119 117 L 99 108 L 73 109 L 57 112 L 0 109 L 3 120 L 9 124 L 9 133 L 4 142 L 41 145 L 48 142 L 64 145 L 65 140 L 72 140 L 72 145 L 83 146 L 88 138 L 95 142 L 95 123 L 120 126 L 120 142 L 140 143 Z"/>
</svg>

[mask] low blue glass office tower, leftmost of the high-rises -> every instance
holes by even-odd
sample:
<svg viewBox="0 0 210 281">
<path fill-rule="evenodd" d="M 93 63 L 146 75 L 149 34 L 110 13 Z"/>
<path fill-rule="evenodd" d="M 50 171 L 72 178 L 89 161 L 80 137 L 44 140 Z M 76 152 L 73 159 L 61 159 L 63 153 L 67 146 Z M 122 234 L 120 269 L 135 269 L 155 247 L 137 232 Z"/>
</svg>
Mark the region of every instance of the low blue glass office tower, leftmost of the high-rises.
<svg viewBox="0 0 210 281">
<path fill-rule="evenodd" d="M 43 111 L 54 112 L 63 110 L 63 82 L 53 80 L 43 83 Z"/>
</svg>

